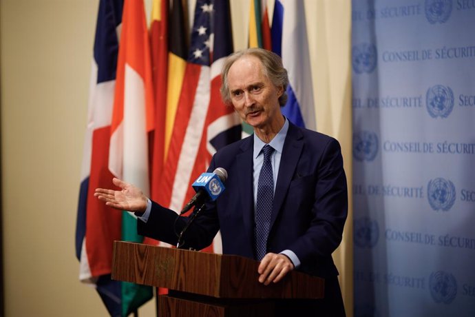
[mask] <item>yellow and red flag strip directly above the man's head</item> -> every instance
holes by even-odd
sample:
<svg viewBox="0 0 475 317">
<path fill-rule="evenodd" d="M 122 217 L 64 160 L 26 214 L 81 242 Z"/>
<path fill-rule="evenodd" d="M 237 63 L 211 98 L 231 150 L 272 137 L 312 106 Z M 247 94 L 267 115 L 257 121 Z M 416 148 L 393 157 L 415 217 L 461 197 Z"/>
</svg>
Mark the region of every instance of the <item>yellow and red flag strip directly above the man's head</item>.
<svg viewBox="0 0 475 317">
<path fill-rule="evenodd" d="M 250 0 L 249 6 L 249 48 L 272 50 L 271 27 L 266 0 Z"/>
</svg>

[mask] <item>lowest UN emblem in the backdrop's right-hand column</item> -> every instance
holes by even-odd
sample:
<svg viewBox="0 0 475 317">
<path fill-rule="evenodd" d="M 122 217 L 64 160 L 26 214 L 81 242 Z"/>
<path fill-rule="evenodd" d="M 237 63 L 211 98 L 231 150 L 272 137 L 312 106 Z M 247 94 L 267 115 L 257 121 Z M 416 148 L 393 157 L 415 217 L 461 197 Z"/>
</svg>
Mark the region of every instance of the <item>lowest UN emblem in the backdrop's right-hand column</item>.
<svg viewBox="0 0 475 317">
<path fill-rule="evenodd" d="M 433 272 L 429 278 L 429 289 L 436 303 L 450 304 L 457 295 L 457 281 L 452 274 Z"/>
</svg>

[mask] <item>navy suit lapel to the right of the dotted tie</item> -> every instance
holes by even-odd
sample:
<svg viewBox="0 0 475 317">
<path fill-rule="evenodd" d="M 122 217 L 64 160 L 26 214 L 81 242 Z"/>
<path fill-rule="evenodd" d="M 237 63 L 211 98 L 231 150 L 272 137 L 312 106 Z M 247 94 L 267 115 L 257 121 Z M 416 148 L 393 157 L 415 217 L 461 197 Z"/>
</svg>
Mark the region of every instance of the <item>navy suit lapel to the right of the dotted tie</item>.
<svg viewBox="0 0 475 317">
<path fill-rule="evenodd" d="M 280 159 L 279 174 L 277 184 L 275 185 L 274 201 L 272 206 L 271 229 L 279 214 L 279 210 L 284 203 L 288 187 L 291 185 L 292 176 L 297 167 L 304 141 L 299 129 L 289 122 L 287 136 L 282 148 L 282 157 Z"/>
</svg>

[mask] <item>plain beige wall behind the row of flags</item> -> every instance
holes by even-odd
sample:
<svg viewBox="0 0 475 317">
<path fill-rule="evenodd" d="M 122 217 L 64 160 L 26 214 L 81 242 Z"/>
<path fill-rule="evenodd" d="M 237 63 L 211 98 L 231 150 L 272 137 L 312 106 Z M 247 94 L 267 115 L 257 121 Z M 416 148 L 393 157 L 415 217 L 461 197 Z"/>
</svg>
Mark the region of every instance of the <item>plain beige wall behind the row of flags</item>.
<svg viewBox="0 0 475 317">
<path fill-rule="evenodd" d="M 235 46 L 244 48 L 249 1 L 231 3 L 234 30 L 239 33 Z M 313 23 L 309 25 L 313 69 L 323 76 L 314 81 L 315 100 L 332 109 L 317 110 L 317 117 L 323 111 L 321 115 L 332 118 L 330 124 L 320 116 L 317 124 L 347 145 L 350 0 L 307 3 Z M 74 255 L 97 8 L 98 0 L 0 0 L 3 274 L 8 317 L 107 316 L 94 289 L 79 283 Z M 327 45 L 335 34 L 341 43 Z M 337 59 L 330 61 L 332 56 Z M 342 107 L 348 107 L 345 116 Z M 350 152 L 345 156 L 350 176 Z M 153 305 L 139 314 L 154 316 Z"/>
</svg>

